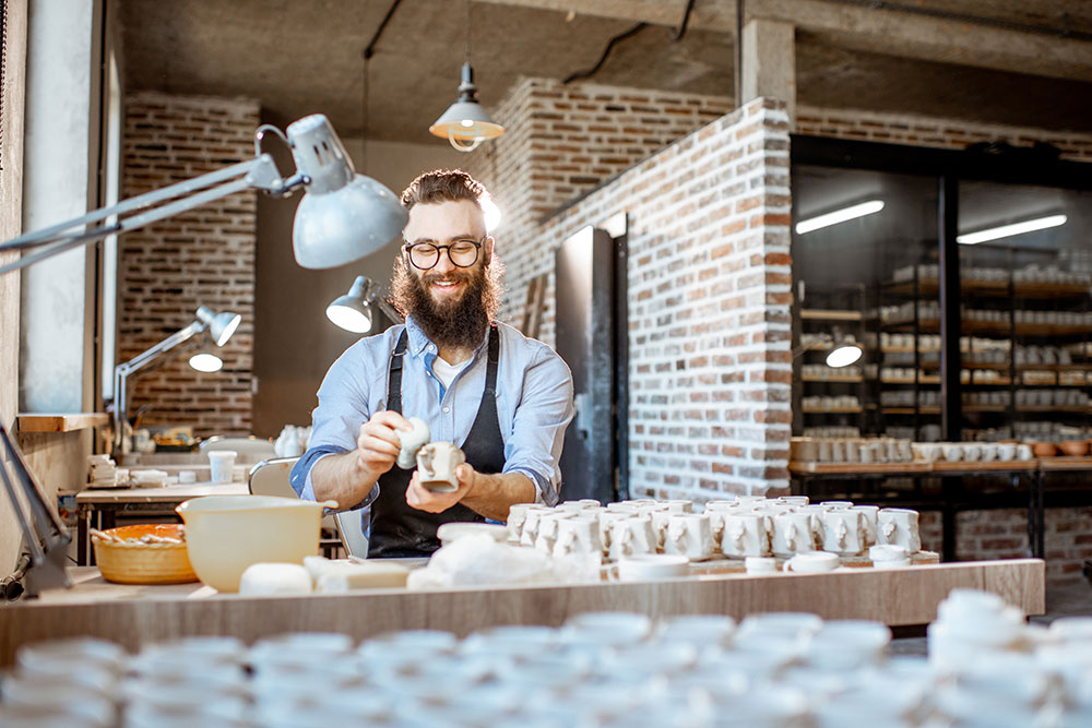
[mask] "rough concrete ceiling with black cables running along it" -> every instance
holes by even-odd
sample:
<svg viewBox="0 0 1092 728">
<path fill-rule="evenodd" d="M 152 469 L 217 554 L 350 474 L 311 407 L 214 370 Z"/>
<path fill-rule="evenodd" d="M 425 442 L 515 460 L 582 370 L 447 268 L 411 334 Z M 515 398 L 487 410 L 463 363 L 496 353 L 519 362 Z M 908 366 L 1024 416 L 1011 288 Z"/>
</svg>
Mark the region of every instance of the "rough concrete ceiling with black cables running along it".
<svg viewBox="0 0 1092 728">
<path fill-rule="evenodd" d="M 592 68 L 608 40 L 640 20 L 658 24 L 618 44 L 592 82 L 731 96 L 734 2 L 698 0 L 675 40 L 686 4 L 478 0 L 471 61 L 480 100 L 495 108 L 521 75 L 563 79 Z M 254 97 L 278 123 L 321 111 L 342 135 L 360 136 L 363 50 L 390 7 L 117 0 L 124 83 L 130 91 Z M 800 104 L 1092 130 L 1085 0 L 750 0 L 746 12 L 798 23 Z M 443 143 L 427 127 L 454 100 L 465 29 L 463 2 L 399 5 L 369 63 L 368 138 Z"/>
</svg>

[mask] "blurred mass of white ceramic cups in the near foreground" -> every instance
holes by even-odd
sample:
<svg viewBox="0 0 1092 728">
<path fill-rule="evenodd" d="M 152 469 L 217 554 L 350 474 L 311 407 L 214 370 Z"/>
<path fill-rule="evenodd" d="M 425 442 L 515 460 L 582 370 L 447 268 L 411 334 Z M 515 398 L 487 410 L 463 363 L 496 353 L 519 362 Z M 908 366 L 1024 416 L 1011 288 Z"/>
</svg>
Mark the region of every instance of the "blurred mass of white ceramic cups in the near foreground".
<svg viewBox="0 0 1092 728">
<path fill-rule="evenodd" d="M 136 655 L 93 640 L 40 643 L 20 649 L 3 681 L 0 725 L 1092 725 L 1087 619 L 1031 628 L 993 595 L 957 592 L 930 629 L 928 660 L 889 656 L 890 639 L 877 622 L 808 613 L 737 625 L 592 612 L 462 640 L 420 630 L 363 643 L 192 637 Z"/>
</svg>

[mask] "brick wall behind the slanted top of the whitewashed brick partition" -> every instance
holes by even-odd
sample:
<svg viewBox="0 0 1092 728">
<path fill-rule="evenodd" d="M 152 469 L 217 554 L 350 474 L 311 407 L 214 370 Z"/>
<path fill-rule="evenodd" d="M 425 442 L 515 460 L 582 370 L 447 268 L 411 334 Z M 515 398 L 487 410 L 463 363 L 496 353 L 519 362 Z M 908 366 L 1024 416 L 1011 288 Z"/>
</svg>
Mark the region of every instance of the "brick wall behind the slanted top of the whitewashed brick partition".
<svg viewBox="0 0 1092 728">
<path fill-rule="evenodd" d="M 547 215 L 732 109 L 720 96 L 521 79 L 494 114 L 505 135 L 464 165 L 505 213 L 496 234 L 509 288 L 501 317 L 519 322 L 527 283 L 553 271 L 555 246 L 529 244 Z M 547 343 L 553 290 L 551 279 L 539 333 Z"/>
</svg>

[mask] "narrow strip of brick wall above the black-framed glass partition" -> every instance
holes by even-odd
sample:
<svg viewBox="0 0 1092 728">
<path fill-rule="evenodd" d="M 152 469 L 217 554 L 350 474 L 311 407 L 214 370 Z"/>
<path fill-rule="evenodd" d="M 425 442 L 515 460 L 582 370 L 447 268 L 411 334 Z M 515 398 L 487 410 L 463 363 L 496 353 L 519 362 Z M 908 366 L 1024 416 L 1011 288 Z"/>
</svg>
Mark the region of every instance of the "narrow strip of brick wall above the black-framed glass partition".
<svg viewBox="0 0 1092 728">
<path fill-rule="evenodd" d="M 952 150 L 962 150 L 969 144 L 978 142 L 1008 142 L 1016 146 L 1031 146 L 1035 142 L 1046 142 L 1061 150 L 1061 156 L 1067 159 L 1092 160 L 1092 134 L 1088 133 L 877 114 L 859 109 L 798 107 L 794 131 L 810 136 L 835 136 L 863 142 Z"/>
</svg>

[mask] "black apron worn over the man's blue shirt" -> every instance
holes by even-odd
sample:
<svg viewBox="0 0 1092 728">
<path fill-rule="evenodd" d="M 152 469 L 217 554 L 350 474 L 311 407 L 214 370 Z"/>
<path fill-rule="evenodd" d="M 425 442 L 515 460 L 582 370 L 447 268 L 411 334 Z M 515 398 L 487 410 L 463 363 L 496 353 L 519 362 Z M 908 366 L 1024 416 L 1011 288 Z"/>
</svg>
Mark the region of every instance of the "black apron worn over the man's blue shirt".
<svg viewBox="0 0 1092 728">
<path fill-rule="evenodd" d="M 387 385 L 387 408 L 402 414 L 402 357 L 406 350 L 406 332 L 402 331 L 391 356 Z M 478 405 L 474 426 L 460 445 L 466 462 L 478 473 L 500 473 L 505 469 L 505 441 L 497 419 L 497 362 L 500 360 L 500 332 L 489 327 L 489 362 L 485 375 L 485 392 Z M 413 413 L 411 413 L 413 414 Z M 427 557 L 440 548 L 436 529 L 453 521 L 485 521 L 461 503 L 442 513 L 427 513 L 406 503 L 406 488 L 413 470 L 397 465 L 379 478 L 379 497 L 371 504 L 371 537 L 368 558 Z"/>
</svg>

